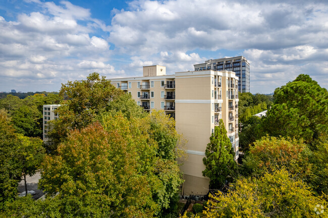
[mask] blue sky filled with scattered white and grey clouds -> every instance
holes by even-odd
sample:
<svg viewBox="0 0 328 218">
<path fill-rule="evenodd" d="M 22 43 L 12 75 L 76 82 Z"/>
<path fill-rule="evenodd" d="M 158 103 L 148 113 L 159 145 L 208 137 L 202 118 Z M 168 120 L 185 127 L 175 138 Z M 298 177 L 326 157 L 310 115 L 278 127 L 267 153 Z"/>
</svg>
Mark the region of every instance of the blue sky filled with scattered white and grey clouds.
<svg viewBox="0 0 328 218">
<path fill-rule="evenodd" d="M 167 75 L 243 55 L 251 93 L 308 74 L 328 88 L 328 1 L 2 0 L 0 91 L 59 91 L 91 72 Z"/>
</svg>

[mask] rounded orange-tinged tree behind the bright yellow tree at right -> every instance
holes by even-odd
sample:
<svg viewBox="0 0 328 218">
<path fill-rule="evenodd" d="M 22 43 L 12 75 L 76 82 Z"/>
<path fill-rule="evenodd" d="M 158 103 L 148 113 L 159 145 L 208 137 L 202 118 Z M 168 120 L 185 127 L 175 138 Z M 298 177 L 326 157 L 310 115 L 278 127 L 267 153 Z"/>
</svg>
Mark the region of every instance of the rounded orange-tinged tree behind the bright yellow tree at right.
<svg viewBox="0 0 328 218">
<path fill-rule="evenodd" d="M 302 139 L 265 136 L 250 147 L 241 172 L 259 177 L 265 172 L 284 168 L 306 180 L 312 174 L 310 156 L 311 151 Z"/>
</svg>

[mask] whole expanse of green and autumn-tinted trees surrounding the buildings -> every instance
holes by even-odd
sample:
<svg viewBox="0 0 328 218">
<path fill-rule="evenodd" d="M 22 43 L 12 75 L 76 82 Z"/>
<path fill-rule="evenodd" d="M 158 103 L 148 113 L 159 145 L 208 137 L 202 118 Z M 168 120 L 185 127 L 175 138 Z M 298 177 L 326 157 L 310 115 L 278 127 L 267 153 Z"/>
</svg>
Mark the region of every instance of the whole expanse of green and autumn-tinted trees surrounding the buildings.
<svg viewBox="0 0 328 218">
<path fill-rule="evenodd" d="M 183 217 L 326 217 L 328 93 L 307 75 L 273 97 L 239 95 L 241 164 L 221 120 L 209 139 L 204 210 Z M 43 143 L 42 105 L 61 104 Z M 259 118 L 255 113 L 267 109 Z M 93 73 L 59 94 L 0 99 L 0 217 L 179 217 L 183 137 Z M 44 200 L 17 196 L 41 172 Z M 199 205 L 202 208 L 202 205 Z"/>
</svg>

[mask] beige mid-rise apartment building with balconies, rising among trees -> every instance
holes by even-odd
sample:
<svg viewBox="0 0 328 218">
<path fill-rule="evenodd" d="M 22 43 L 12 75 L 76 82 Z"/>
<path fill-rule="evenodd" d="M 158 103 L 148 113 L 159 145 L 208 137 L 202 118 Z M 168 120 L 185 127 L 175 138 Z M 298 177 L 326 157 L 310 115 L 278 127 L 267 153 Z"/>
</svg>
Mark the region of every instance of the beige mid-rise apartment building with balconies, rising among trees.
<svg viewBox="0 0 328 218">
<path fill-rule="evenodd" d="M 204 195 L 209 179 L 202 176 L 202 159 L 209 137 L 223 119 L 238 159 L 238 77 L 233 71 L 186 71 L 166 75 L 165 66 L 144 66 L 143 77 L 111 79 L 144 110 L 165 110 L 187 140 L 182 194 Z"/>
</svg>

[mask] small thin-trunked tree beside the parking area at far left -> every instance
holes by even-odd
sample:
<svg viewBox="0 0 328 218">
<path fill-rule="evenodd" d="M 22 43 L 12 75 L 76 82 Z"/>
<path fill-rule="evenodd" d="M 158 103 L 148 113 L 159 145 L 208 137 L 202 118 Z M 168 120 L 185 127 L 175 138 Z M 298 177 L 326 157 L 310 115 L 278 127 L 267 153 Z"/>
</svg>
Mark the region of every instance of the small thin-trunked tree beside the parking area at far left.
<svg viewBox="0 0 328 218">
<path fill-rule="evenodd" d="M 39 138 L 30 138 L 18 134 L 16 153 L 21 164 L 25 183 L 25 194 L 27 195 L 26 175 L 33 176 L 39 170 L 45 153 L 43 141 Z"/>
</svg>

